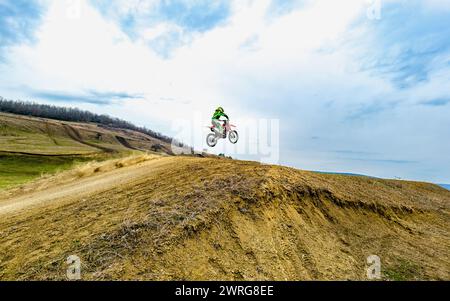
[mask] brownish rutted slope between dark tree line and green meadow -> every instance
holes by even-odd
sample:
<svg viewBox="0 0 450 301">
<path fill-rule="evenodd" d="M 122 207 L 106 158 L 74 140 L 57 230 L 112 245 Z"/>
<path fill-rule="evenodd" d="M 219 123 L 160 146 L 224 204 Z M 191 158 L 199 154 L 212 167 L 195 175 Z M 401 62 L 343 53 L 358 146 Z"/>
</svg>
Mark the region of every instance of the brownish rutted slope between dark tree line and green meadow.
<svg viewBox="0 0 450 301">
<path fill-rule="evenodd" d="M 170 153 L 166 142 L 132 130 L 0 113 L 2 153 L 67 156 L 155 148 Z"/>
</svg>

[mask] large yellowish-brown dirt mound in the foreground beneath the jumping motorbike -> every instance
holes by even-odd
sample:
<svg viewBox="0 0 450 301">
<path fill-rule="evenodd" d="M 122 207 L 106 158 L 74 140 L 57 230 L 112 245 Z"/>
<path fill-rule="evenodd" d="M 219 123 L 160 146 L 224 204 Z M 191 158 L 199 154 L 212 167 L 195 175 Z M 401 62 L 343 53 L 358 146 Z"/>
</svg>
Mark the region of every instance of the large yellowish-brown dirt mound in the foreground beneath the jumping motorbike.
<svg viewBox="0 0 450 301">
<path fill-rule="evenodd" d="M 384 279 L 449 280 L 449 209 L 427 183 L 137 155 L 0 194 L 0 279 L 76 255 L 85 280 L 356 280 L 374 254 Z"/>
</svg>

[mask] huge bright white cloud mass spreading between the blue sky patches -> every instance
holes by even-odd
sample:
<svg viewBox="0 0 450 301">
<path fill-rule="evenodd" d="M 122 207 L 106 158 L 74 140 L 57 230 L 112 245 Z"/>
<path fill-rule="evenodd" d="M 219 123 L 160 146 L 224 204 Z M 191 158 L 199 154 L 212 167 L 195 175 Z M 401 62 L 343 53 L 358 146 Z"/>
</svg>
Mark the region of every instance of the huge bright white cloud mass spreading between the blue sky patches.
<svg viewBox="0 0 450 301">
<path fill-rule="evenodd" d="M 366 1 L 308 1 L 301 9 L 276 18 L 267 18 L 269 0 L 234 1 L 226 24 L 195 34 L 169 59 L 155 54 L 148 41 L 179 30 L 177 25 L 163 22 L 142 27 L 138 38 L 130 39 L 116 22 L 104 18 L 87 1 L 81 3 L 80 18 L 73 19 L 68 18 L 64 2 L 51 1 L 38 43 L 13 48 L 9 63 L 0 65 L 1 74 L 8 74 L 0 81 L 4 96 L 27 99 L 23 91 L 13 89 L 22 86 L 143 94 L 143 100 L 122 105 L 80 106 L 164 132 L 170 131 L 174 119 L 189 118 L 194 112 L 208 118 L 222 105 L 235 118 L 280 118 L 281 155 L 286 164 L 450 182 L 450 174 L 435 162 L 445 160 L 437 155 L 438 149 L 450 151 L 449 144 L 438 147 L 431 140 L 435 136 L 425 136 L 430 131 L 441 133 L 439 122 L 445 122 L 444 115 L 428 122 L 426 130 L 413 120 L 426 122 L 435 114 L 420 111 L 415 106 L 419 100 L 450 92 L 442 88 L 448 68 L 433 75 L 433 81 L 405 91 L 396 90 L 387 78 L 361 71 L 356 54 L 367 45 L 351 49 L 347 42 L 354 37 L 348 31 L 353 21 L 365 16 Z M 120 3 L 117 7 L 122 11 L 117 13 L 126 14 L 141 2 Z M 361 32 L 370 34 L 365 29 Z M 249 41 L 251 47 L 242 47 Z M 382 109 L 397 100 L 407 103 L 407 108 L 393 107 L 386 116 L 346 122 L 358 110 L 379 109 L 374 103 Z M 361 107 L 366 104 L 367 108 Z M 414 133 L 419 134 L 417 141 Z M 311 140 L 312 136 L 320 139 Z M 417 150 L 424 143 L 432 146 L 429 151 Z M 428 161 L 423 166 L 436 173 L 417 171 L 414 164 L 399 167 L 338 158 L 332 154 L 336 149 L 377 153 L 386 162 Z"/>
</svg>

